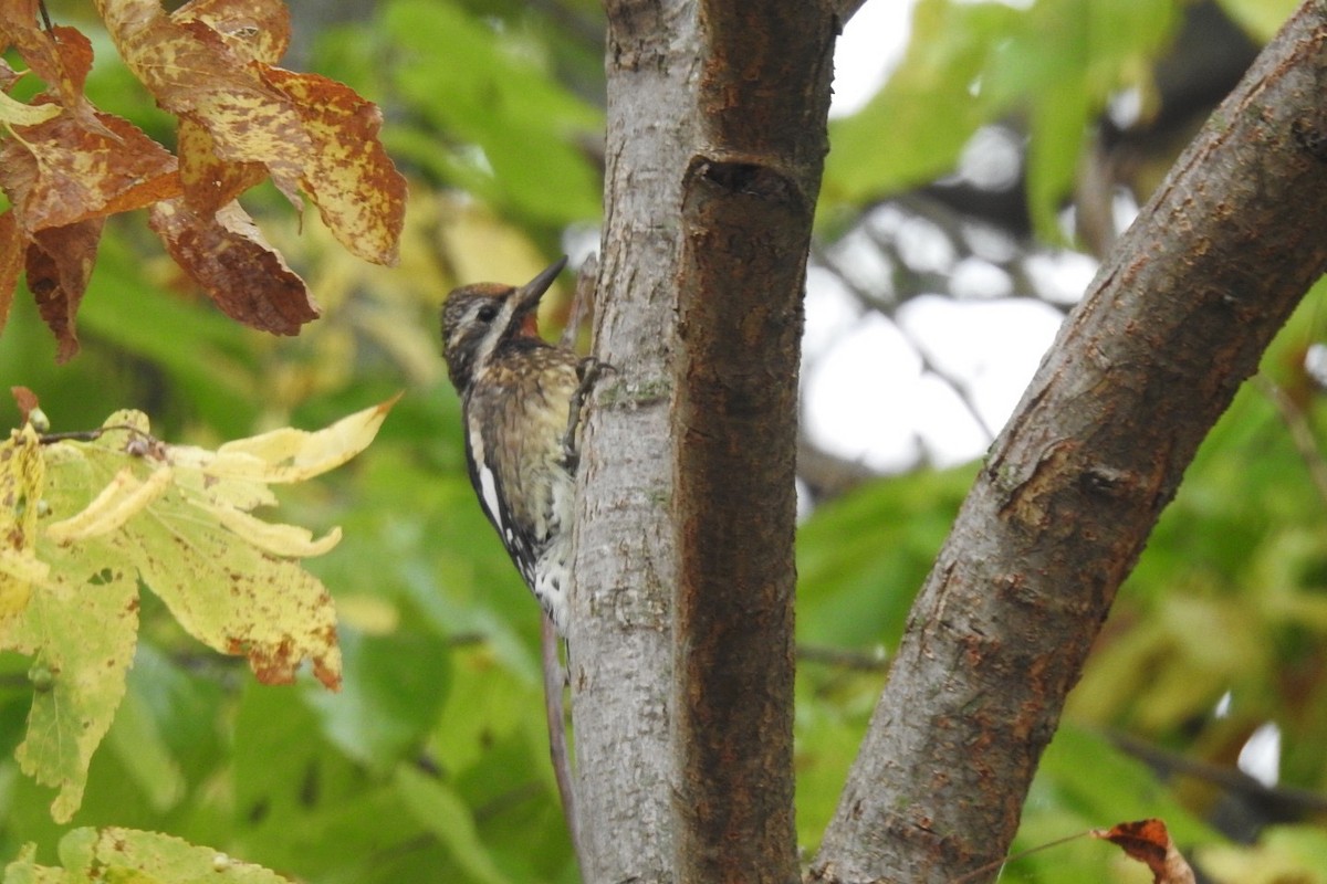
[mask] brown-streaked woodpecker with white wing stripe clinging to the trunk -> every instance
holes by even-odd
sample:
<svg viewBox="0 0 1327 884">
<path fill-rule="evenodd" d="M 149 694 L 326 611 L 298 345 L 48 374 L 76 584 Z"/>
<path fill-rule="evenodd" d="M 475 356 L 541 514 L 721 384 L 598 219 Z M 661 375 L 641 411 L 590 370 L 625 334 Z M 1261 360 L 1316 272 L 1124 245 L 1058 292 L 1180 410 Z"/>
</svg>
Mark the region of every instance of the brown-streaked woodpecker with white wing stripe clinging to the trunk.
<svg viewBox="0 0 1327 884">
<path fill-rule="evenodd" d="M 462 403 L 470 482 L 525 584 L 567 635 L 576 429 L 596 366 L 539 337 L 563 258 L 520 288 L 480 282 L 442 309 L 447 374 Z"/>
</svg>

